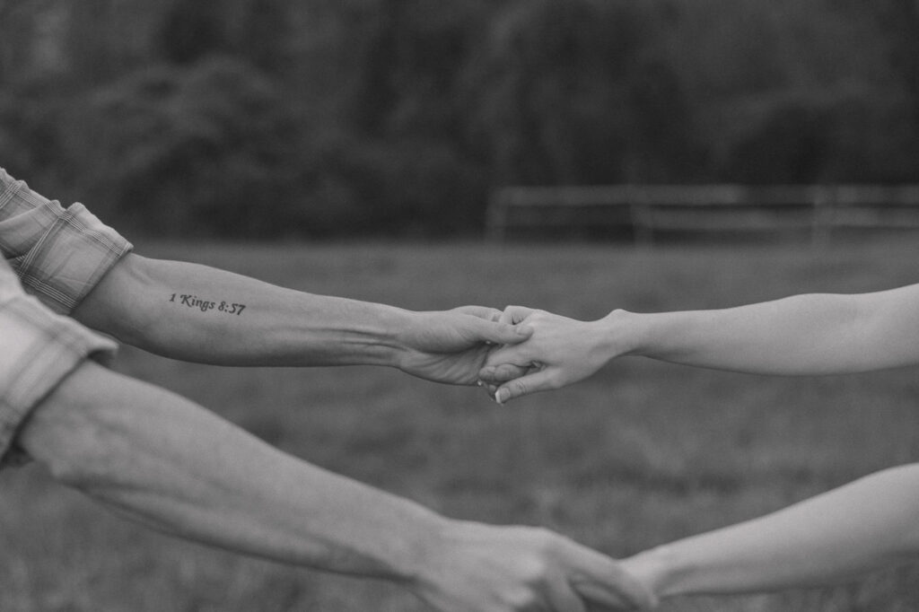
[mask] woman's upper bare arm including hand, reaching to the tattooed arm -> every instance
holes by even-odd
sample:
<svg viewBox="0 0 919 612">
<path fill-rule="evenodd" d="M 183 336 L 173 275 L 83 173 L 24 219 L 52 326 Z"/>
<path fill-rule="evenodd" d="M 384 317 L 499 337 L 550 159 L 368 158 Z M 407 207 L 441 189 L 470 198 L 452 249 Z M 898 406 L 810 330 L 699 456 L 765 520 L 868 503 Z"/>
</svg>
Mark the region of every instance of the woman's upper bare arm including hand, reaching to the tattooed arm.
<svg viewBox="0 0 919 612">
<path fill-rule="evenodd" d="M 755 374 L 888 368 L 919 361 L 917 304 L 919 286 L 708 311 L 616 310 L 591 322 L 509 306 L 504 316 L 532 335 L 495 350 L 480 377 L 505 402 L 582 380 L 624 355 Z M 520 367 L 532 366 L 538 371 L 520 375 Z"/>
</svg>

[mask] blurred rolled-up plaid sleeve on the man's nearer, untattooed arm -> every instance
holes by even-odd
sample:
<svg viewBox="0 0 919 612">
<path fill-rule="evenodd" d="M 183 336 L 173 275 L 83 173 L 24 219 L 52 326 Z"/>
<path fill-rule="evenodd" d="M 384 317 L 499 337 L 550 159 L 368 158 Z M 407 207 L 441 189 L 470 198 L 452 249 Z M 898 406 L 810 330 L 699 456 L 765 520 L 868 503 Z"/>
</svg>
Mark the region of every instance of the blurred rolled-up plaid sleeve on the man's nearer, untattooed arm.
<svg viewBox="0 0 919 612">
<path fill-rule="evenodd" d="M 28 460 L 16 435 L 41 400 L 85 359 L 106 363 L 116 348 L 26 295 L 0 261 L 0 468 Z"/>
</svg>

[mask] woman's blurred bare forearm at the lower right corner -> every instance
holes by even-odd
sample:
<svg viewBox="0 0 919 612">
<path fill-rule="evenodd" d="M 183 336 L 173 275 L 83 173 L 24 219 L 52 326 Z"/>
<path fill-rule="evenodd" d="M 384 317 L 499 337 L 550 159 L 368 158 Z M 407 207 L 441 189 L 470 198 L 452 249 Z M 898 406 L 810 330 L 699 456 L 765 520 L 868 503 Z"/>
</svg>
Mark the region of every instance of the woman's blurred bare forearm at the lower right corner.
<svg viewBox="0 0 919 612">
<path fill-rule="evenodd" d="M 919 464 L 623 561 L 659 596 L 832 584 L 919 555 Z"/>
</svg>

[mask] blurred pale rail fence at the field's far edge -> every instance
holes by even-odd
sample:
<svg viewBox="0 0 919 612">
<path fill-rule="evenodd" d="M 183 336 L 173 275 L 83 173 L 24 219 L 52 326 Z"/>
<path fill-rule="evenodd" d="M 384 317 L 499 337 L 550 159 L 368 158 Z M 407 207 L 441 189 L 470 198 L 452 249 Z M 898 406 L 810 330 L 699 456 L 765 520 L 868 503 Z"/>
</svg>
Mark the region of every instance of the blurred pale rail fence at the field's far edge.
<svg viewBox="0 0 919 612">
<path fill-rule="evenodd" d="M 489 203 L 488 236 L 503 241 L 511 226 L 559 224 L 550 210 L 570 211 L 562 222 L 571 225 L 603 210 L 639 243 L 659 232 L 783 231 L 821 243 L 834 229 L 919 229 L 919 185 L 504 187 Z"/>
</svg>

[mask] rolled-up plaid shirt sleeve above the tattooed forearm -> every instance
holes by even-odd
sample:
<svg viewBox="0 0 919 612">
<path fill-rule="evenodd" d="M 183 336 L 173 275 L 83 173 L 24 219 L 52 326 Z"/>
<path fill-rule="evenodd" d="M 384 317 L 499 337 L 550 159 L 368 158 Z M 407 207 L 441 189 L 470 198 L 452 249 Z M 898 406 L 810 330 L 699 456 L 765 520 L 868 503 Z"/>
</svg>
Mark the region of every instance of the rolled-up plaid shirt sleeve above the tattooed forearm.
<svg viewBox="0 0 919 612">
<path fill-rule="evenodd" d="M 64 209 L 0 168 L 0 253 L 52 311 L 71 312 L 130 249 L 82 204 Z"/>
</svg>

